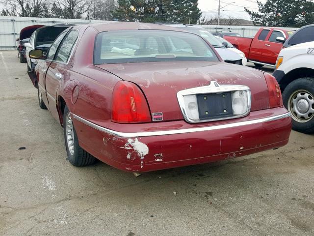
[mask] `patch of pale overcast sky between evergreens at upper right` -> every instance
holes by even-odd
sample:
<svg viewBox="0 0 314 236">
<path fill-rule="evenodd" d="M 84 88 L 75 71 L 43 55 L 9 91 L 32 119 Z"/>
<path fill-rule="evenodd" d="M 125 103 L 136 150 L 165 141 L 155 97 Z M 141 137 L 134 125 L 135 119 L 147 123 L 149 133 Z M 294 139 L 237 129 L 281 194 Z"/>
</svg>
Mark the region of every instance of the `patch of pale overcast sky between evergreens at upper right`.
<svg viewBox="0 0 314 236">
<path fill-rule="evenodd" d="M 261 1 L 265 2 L 266 0 Z M 224 7 L 228 3 L 232 4 Z M 198 0 L 198 7 L 203 11 L 204 16 L 218 16 L 218 0 Z M 250 20 L 250 16 L 244 11 L 244 7 L 250 10 L 258 11 L 256 0 L 221 0 L 220 7 L 223 7 L 220 10 L 221 18 L 233 17 L 237 19 Z"/>
</svg>

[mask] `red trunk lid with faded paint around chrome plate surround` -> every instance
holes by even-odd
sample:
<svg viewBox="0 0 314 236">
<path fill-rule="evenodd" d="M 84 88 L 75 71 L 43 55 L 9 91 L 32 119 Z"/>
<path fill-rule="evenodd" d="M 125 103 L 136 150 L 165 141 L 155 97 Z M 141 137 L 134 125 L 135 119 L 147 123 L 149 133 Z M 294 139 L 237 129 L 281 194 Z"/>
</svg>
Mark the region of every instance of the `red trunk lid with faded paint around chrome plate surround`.
<svg viewBox="0 0 314 236">
<path fill-rule="evenodd" d="M 183 119 L 177 93 L 180 90 L 219 85 L 244 85 L 251 89 L 251 111 L 269 108 L 263 72 L 223 62 L 177 61 L 96 65 L 122 80 L 135 83 L 144 92 L 151 113 L 163 120 Z"/>
</svg>

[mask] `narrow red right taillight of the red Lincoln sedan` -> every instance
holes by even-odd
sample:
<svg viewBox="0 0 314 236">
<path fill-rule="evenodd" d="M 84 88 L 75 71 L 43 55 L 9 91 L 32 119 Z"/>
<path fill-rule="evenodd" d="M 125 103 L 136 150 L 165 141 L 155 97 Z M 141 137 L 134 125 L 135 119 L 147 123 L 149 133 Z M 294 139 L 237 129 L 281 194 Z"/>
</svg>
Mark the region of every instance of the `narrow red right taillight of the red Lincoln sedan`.
<svg viewBox="0 0 314 236">
<path fill-rule="evenodd" d="M 275 77 L 268 73 L 264 73 L 264 76 L 269 92 L 269 108 L 281 107 L 283 105 L 283 98 Z"/>
</svg>

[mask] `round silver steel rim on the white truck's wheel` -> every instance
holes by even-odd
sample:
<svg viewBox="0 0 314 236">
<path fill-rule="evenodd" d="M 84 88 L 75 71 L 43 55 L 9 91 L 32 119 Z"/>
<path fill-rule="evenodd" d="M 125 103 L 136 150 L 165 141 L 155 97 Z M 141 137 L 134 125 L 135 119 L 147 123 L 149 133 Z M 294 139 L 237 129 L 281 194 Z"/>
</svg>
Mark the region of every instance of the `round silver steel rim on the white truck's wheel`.
<svg viewBox="0 0 314 236">
<path fill-rule="evenodd" d="M 288 100 L 288 110 L 298 122 L 307 122 L 314 116 L 314 97 L 307 90 L 297 90 Z"/>
</svg>

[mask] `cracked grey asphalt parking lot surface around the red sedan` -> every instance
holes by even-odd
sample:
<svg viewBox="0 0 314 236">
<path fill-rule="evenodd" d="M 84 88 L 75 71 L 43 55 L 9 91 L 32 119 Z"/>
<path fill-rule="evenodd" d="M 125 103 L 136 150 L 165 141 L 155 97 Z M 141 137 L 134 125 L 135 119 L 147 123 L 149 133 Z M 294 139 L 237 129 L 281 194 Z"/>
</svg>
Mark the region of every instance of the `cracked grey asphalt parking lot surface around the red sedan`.
<svg viewBox="0 0 314 236">
<path fill-rule="evenodd" d="M 314 235 L 314 135 L 140 177 L 100 161 L 78 168 L 26 64 L 0 51 L 0 68 L 0 235 Z"/>
</svg>

